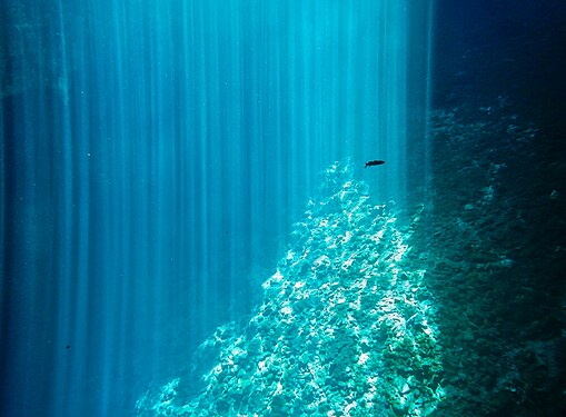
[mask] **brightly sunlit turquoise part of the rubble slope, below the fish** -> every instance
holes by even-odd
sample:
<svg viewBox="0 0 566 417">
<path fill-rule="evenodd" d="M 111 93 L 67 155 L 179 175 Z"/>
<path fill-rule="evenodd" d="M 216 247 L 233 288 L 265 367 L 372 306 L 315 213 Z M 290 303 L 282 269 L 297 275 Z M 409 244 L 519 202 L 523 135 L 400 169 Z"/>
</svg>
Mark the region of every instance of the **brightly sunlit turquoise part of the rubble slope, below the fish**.
<svg viewBox="0 0 566 417">
<path fill-rule="evenodd" d="M 332 165 L 249 322 L 203 345 L 217 356 L 201 393 L 175 379 L 139 415 L 429 415 L 441 351 L 425 271 L 405 259 L 416 221 L 401 227 L 348 163 Z"/>
</svg>

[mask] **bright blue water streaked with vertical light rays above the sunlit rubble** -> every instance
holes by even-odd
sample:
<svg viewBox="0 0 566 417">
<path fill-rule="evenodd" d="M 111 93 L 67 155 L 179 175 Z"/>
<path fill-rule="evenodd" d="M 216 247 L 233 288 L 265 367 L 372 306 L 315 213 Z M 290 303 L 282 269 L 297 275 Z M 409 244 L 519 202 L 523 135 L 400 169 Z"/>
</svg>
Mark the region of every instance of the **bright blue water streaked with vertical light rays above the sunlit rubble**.
<svg viewBox="0 0 566 417">
<path fill-rule="evenodd" d="M 3 8 L 2 415 L 133 413 L 251 311 L 335 160 L 405 198 L 426 7 Z"/>
</svg>

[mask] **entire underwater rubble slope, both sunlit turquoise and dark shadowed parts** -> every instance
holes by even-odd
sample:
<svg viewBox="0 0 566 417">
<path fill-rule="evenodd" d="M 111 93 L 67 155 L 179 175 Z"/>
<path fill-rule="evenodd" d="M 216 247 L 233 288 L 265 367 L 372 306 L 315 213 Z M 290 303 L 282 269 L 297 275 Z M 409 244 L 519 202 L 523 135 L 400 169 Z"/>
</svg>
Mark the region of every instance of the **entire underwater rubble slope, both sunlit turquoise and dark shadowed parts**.
<svg viewBox="0 0 566 417">
<path fill-rule="evenodd" d="M 564 415 L 565 166 L 509 110 L 431 115 L 413 212 L 329 168 L 251 318 L 201 346 L 202 385 L 139 416 Z"/>
</svg>

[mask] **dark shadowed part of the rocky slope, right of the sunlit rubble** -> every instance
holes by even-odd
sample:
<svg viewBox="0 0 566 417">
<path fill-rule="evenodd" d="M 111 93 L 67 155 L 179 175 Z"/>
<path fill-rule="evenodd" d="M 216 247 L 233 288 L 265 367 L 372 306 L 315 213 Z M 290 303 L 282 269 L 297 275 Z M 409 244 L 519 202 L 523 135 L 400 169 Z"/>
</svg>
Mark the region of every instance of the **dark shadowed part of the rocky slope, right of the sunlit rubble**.
<svg viewBox="0 0 566 417">
<path fill-rule="evenodd" d="M 563 145 L 504 97 L 488 109 L 431 115 L 434 193 L 411 242 L 427 255 L 443 336 L 437 411 L 563 416 L 566 222 L 552 198 Z"/>
</svg>

